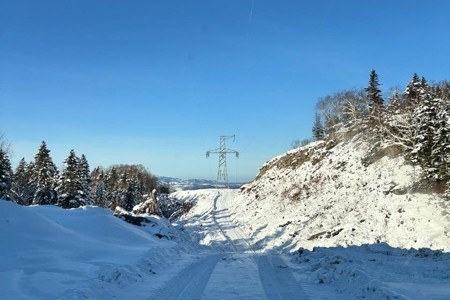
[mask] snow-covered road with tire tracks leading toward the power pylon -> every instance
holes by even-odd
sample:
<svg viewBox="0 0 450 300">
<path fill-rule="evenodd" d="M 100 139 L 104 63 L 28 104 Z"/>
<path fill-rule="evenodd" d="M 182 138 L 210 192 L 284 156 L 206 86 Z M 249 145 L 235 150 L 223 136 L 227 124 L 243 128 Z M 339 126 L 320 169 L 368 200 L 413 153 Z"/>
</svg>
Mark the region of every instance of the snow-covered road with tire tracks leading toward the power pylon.
<svg viewBox="0 0 450 300">
<path fill-rule="evenodd" d="M 150 299 L 308 299 L 280 254 L 257 253 L 233 223 L 234 191 L 217 190 L 189 217 L 192 234 L 207 237 L 211 250 L 200 253 Z"/>
</svg>

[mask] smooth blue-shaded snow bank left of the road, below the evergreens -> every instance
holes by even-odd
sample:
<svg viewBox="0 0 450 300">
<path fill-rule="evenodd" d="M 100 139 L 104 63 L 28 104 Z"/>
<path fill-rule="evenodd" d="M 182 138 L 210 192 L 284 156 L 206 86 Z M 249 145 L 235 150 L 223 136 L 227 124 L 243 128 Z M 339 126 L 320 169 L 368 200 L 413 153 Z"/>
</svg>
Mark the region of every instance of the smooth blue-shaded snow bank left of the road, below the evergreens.
<svg viewBox="0 0 450 300">
<path fill-rule="evenodd" d="M 155 226 L 133 226 L 90 206 L 0 200 L 0 224 L 0 291 L 7 299 L 112 298 L 121 286 L 153 275 L 152 258 L 161 261 L 157 256 L 175 245 L 155 237 Z"/>
</svg>

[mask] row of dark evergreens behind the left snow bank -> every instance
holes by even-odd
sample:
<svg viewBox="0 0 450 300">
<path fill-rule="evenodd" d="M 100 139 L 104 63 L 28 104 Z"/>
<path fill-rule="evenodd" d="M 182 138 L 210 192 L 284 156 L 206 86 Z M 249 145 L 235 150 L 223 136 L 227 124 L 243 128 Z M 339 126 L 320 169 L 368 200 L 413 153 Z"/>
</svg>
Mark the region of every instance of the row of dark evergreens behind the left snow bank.
<svg viewBox="0 0 450 300">
<path fill-rule="evenodd" d="M 63 208 L 96 205 L 131 211 L 151 197 L 158 179 L 142 165 L 113 165 L 90 171 L 86 156 L 70 150 L 59 171 L 42 142 L 34 160 L 22 158 L 12 170 L 7 147 L 0 147 L 0 198 L 20 205 L 53 204 Z"/>
</svg>

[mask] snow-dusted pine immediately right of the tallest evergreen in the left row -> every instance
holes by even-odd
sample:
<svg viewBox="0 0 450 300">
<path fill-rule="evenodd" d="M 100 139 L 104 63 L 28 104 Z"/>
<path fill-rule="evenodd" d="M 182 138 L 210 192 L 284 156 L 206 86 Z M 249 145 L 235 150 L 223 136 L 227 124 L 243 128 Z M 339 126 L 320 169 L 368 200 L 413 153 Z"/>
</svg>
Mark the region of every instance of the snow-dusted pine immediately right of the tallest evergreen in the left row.
<svg viewBox="0 0 450 300">
<path fill-rule="evenodd" d="M 76 208 L 86 204 L 82 178 L 79 172 L 79 159 L 74 150 L 64 160 L 64 169 L 58 181 L 58 206 Z"/>
</svg>

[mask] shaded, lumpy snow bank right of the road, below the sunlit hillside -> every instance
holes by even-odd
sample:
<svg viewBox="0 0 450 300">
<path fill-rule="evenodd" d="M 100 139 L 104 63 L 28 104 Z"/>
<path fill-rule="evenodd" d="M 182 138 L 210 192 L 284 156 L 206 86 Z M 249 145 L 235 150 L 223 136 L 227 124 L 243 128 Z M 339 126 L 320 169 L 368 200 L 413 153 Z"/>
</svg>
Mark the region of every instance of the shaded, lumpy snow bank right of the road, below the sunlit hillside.
<svg viewBox="0 0 450 300">
<path fill-rule="evenodd" d="M 298 279 L 343 299 L 448 299 L 450 253 L 387 244 L 300 249 Z M 318 287 L 317 287 L 318 288 Z"/>
</svg>

